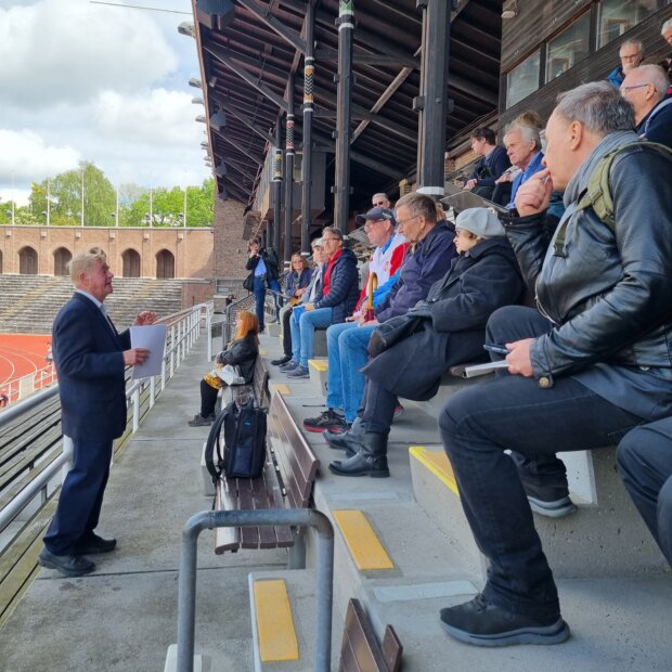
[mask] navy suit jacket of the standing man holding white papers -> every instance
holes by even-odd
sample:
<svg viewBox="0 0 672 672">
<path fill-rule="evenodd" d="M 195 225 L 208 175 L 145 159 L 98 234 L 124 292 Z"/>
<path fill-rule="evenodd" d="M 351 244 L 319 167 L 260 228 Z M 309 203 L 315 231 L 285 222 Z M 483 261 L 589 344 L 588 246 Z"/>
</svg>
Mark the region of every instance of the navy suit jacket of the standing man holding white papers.
<svg viewBox="0 0 672 672">
<path fill-rule="evenodd" d="M 124 350 L 118 334 L 95 303 L 75 293 L 52 327 L 63 434 L 75 441 L 112 441 L 126 428 Z"/>
</svg>

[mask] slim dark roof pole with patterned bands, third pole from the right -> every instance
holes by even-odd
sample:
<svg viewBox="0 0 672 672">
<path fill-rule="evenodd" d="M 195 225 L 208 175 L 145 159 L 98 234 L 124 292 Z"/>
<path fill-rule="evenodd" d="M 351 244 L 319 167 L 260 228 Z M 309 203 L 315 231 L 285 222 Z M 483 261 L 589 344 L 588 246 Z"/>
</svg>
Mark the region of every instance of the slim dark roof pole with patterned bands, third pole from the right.
<svg viewBox="0 0 672 672">
<path fill-rule="evenodd" d="M 315 0 L 306 7 L 306 56 L 303 59 L 303 158 L 301 177 L 301 253 L 310 254 L 311 190 L 312 190 L 312 116 L 313 83 L 315 75 L 314 57 Z"/>
</svg>

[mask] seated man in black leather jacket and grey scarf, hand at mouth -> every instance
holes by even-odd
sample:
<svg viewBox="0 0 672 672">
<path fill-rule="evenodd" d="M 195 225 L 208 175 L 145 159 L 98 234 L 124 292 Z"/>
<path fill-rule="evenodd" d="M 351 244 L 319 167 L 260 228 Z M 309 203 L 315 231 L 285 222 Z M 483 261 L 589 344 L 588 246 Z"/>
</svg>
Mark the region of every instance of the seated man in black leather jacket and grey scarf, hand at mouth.
<svg viewBox="0 0 672 672">
<path fill-rule="evenodd" d="M 441 610 L 448 633 L 480 646 L 569 636 L 553 573 L 506 450 L 534 457 L 612 445 L 672 415 L 672 157 L 637 141 L 631 105 L 608 82 L 568 91 L 548 119 L 545 169 L 516 197 L 506 230 L 539 310 L 503 308 L 488 325 L 508 373 L 451 397 L 439 419 L 488 581 Z M 629 143 L 608 176 L 612 225 L 578 207 L 591 175 Z M 566 211 L 551 245 L 553 190 Z"/>
</svg>

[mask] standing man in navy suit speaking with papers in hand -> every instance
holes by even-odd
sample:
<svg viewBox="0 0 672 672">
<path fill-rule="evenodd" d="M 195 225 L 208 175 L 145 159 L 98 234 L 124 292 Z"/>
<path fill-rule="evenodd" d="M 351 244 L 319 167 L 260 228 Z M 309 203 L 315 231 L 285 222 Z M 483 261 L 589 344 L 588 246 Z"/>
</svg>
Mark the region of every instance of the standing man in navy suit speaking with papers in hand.
<svg viewBox="0 0 672 672">
<path fill-rule="evenodd" d="M 112 442 L 126 427 L 124 370 L 142 364 L 150 351 L 130 347 L 130 334 L 119 334 L 103 302 L 112 294 L 113 273 L 105 253 L 93 248 L 73 257 L 73 298 L 54 320 L 52 344 L 59 374 L 63 435 L 74 444 L 56 513 L 44 535 L 38 561 L 66 577 L 95 569 L 83 557 L 107 553 L 115 539 L 94 533 L 109 474 Z M 137 315 L 134 324 L 152 324 L 156 313 Z"/>
</svg>

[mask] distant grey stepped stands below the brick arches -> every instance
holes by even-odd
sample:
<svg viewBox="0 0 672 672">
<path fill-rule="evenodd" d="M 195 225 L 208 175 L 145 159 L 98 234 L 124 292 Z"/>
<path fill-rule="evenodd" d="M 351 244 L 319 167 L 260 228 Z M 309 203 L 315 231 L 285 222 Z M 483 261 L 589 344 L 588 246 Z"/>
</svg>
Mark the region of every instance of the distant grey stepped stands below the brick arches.
<svg viewBox="0 0 672 672">
<path fill-rule="evenodd" d="M 0 333 L 51 333 L 56 313 L 72 294 L 68 277 L 0 274 Z M 169 315 L 182 308 L 182 281 L 115 277 L 105 306 L 119 328 L 132 324 L 142 310 Z"/>
</svg>

